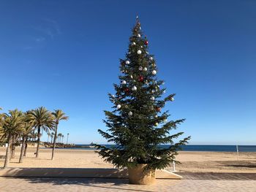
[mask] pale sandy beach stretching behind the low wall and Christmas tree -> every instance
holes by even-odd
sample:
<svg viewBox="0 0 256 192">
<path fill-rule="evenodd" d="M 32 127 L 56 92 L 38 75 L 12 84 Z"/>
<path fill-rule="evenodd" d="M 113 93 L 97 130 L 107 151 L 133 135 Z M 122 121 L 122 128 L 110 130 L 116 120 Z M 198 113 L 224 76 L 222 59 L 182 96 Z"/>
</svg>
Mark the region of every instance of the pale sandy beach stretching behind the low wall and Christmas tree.
<svg viewBox="0 0 256 192">
<path fill-rule="evenodd" d="M 39 158 L 35 158 L 35 148 L 29 148 L 27 157 L 22 164 L 18 163 L 20 149 L 10 161 L 10 167 L 59 167 L 59 168 L 113 168 L 112 164 L 104 162 L 93 150 L 56 149 L 56 158 L 51 161 L 51 150 L 41 149 Z M 4 164 L 5 148 L 0 147 L 0 166 Z M 181 151 L 177 156 L 181 164 L 176 165 L 177 172 L 234 172 L 255 173 L 256 153 L 230 152 L 187 152 Z M 166 168 L 172 170 L 170 166 Z"/>
</svg>

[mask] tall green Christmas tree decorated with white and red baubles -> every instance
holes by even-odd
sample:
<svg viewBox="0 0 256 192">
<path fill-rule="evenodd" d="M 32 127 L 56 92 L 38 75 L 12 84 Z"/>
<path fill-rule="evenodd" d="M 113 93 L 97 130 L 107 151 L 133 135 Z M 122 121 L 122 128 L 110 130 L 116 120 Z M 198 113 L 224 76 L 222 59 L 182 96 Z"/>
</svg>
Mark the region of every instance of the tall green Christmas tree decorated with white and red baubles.
<svg viewBox="0 0 256 192">
<path fill-rule="evenodd" d="M 114 84 L 116 95 L 109 94 L 113 111 L 105 111 L 108 130 L 98 130 L 116 145 L 96 145 L 97 153 L 118 168 L 146 164 L 146 169 L 163 169 L 176 161 L 177 150 L 190 137 L 173 142 L 183 132 L 171 135 L 170 131 L 184 119 L 167 120 L 168 111 L 162 112 L 167 101 L 174 101 L 175 94 L 162 98 L 164 82 L 157 80 L 156 61 L 148 53 L 148 39 L 143 36 L 138 18 L 126 58 L 120 63 L 120 85 Z"/>
</svg>

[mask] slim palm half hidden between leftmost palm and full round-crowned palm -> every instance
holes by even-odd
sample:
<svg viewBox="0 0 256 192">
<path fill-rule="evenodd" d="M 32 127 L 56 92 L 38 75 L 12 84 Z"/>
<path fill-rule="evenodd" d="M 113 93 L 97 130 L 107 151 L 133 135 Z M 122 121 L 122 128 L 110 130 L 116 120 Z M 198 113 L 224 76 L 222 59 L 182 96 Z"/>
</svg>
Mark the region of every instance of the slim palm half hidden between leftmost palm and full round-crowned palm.
<svg viewBox="0 0 256 192">
<path fill-rule="evenodd" d="M 21 150 L 20 150 L 19 163 L 23 162 L 23 156 L 25 154 L 25 148 L 27 146 L 26 142 L 28 140 L 29 134 L 31 134 L 31 132 L 33 131 L 33 128 L 34 128 L 34 122 L 32 120 L 30 120 L 29 112 L 26 112 L 24 115 L 25 115 L 24 130 L 23 130 L 23 133 L 22 133 L 22 145 L 21 145 Z"/>
</svg>

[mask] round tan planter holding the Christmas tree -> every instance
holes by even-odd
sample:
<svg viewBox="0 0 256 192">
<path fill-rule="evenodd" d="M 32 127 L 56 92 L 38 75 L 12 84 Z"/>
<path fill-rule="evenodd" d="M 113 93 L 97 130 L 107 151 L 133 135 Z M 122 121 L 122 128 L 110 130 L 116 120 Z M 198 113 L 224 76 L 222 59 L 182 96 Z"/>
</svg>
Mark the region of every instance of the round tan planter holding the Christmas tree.
<svg viewBox="0 0 256 192">
<path fill-rule="evenodd" d="M 150 185 L 156 182 L 155 169 L 144 171 L 146 164 L 138 164 L 136 167 L 128 168 L 129 183 L 135 185 Z"/>
</svg>

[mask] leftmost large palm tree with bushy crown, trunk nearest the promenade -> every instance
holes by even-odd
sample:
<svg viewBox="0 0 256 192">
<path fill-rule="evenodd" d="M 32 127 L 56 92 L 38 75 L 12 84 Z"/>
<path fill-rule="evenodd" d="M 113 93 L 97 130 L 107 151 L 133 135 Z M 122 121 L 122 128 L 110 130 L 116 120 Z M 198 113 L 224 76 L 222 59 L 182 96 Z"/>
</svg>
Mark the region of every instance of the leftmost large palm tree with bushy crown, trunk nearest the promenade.
<svg viewBox="0 0 256 192">
<path fill-rule="evenodd" d="M 10 162 L 10 150 L 13 137 L 20 135 L 23 132 L 23 113 L 19 110 L 10 110 L 9 114 L 5 113 L 1 122 L 1 129 L 3 132 L 2 137 L 7 138 L 8 147 L 6 150 L 6 156 L 4 161 L 4 168 L 9 165 Z"/>
</svg>

